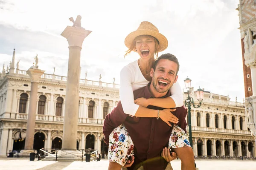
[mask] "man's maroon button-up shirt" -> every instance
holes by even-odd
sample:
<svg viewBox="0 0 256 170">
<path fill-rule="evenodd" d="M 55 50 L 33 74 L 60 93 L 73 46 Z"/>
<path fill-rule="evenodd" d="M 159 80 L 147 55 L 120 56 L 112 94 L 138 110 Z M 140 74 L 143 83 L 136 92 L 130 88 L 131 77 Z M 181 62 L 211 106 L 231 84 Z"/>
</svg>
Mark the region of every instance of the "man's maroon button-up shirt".
<svg viewBox="0 0 256 170">
<path fill-rule="evenodd" d="M 150 83 L 134 91 L 134 99 L 145 97 L 153 98 L 149 89 Z M 164 97 L 171 96 L 170 91 Z M 150 109 L 160 109 L 156 106 L 148 106 Z M 186 114 L 187 110 L 184 106 L 177 108 L 172 112 L 178 119 L 178 126 L 186 132 Z M 169 138 L 172 128 L 157 118 L 136 118 L 125 114 L 122 104 L 119 101 L 111 113 L 109 113 L 104 121 L 103 134 L 105 142 L 108 144 L 109 135 L 115 127 L 124 124 L 128 130 L 132 141 L 134 142 L 135 161 L 128 170 L 134 170 L 143 165 L 144 170 L 165 170 L 168 162 L 161 157 L 164 147 L 168 147 Z M 173 123 L 172 123 L 173 125 Z"/>
</svg>

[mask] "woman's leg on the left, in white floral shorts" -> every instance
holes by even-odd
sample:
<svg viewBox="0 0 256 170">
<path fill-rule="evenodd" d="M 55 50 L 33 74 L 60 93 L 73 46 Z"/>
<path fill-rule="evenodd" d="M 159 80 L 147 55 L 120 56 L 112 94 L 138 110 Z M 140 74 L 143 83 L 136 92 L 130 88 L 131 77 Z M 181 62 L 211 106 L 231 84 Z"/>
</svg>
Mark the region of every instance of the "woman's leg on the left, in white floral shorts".
<svg viewBox="0 0 256 170">
<path fill-rule="evenodd" d="M 134 144 L 122 124 L 116 127 L 109 136 L 108 170 L 121 170 L 130 156 L 134 155 Z"/>
</svg>

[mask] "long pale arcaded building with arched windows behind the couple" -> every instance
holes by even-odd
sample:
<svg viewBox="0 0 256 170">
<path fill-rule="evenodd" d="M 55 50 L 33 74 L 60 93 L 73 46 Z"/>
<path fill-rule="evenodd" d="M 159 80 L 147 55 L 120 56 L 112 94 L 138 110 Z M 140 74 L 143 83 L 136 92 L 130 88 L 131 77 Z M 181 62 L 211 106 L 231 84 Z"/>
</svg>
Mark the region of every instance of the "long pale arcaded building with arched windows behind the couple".
<svg viewBox="0 0 256 170">
<path fill-rule="evenodd" d="M 15 55 L 15 53 L 14 53 Z M 24 149 L 31 79 L 26 71 L 0 74 L 0 156 Z M 67 77 L 43 74 L 38 83 L 34 149 L 61 149 Z M 194 91 L 191 95 L 195 99 Z M 186 94 L 184 93 L 184 99 Z M 105 116 L 119 101 L 119 85 L 80 79 L 78 149 L 107 153 L 102 138 Z M 244 104 L 228 96 L 204 93 L 201 108 L 192 108 L 195 156 L 255 157 L 255 141 L 246 124 Z"/>
</svg>

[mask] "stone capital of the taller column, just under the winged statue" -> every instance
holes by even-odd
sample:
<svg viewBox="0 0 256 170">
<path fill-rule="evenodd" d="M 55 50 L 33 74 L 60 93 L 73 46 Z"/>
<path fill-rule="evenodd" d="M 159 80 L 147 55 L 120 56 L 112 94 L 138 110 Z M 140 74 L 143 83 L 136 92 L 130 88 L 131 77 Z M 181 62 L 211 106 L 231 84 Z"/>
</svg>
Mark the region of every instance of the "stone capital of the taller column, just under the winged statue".
<svg viewBox="0 0 256 170">
<path fill-rule="evenodd" d="M 77 46 L 82 47 L 84 38 L 87 37 L 92 31 L 85 30 L 81 27 L 67 26 L 61 33 L 61 36 L 67 38 L 69 47 Z"/>
</svg>

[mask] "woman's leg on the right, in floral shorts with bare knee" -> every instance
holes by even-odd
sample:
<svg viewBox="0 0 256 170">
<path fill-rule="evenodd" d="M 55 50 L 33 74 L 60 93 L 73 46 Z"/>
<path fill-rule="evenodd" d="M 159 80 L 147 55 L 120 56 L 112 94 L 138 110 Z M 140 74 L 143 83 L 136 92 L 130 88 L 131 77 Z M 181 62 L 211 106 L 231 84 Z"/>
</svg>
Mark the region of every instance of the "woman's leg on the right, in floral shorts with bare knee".
<svg viewBox="0 0 256 170">
<path fill-rule="evenodd" d="M 183 129 L 174 125 L 169 139 L 169 148 L 174 151 L 181 160 L 181 170 L 195 170 L 193 149 L 189 144 L 187 134 Z"/>
</svg>

